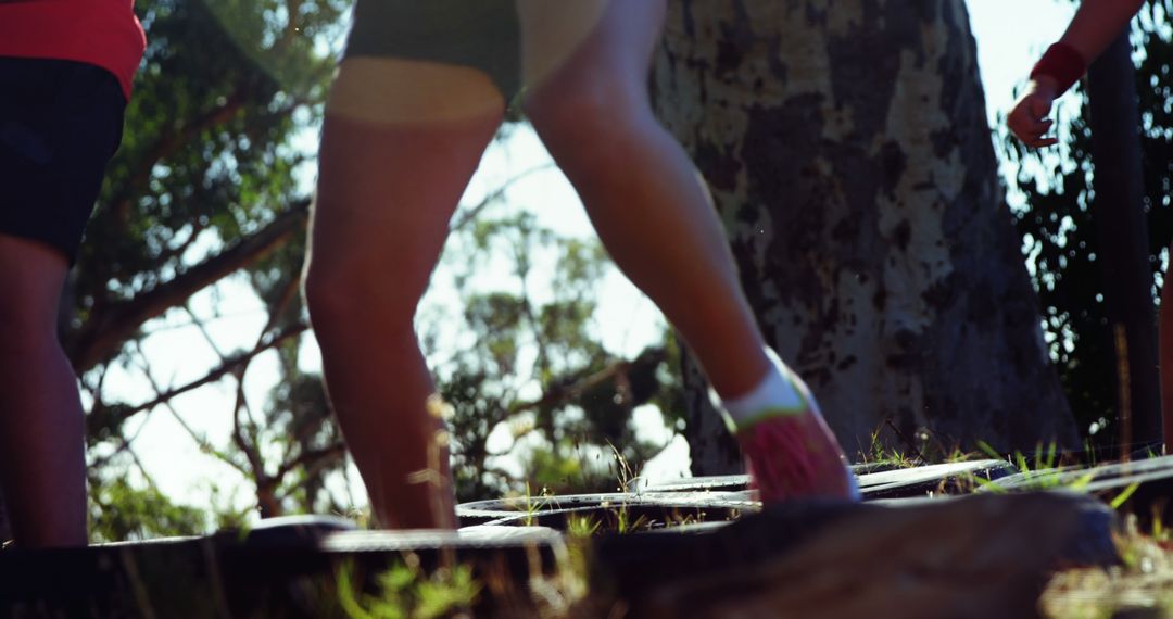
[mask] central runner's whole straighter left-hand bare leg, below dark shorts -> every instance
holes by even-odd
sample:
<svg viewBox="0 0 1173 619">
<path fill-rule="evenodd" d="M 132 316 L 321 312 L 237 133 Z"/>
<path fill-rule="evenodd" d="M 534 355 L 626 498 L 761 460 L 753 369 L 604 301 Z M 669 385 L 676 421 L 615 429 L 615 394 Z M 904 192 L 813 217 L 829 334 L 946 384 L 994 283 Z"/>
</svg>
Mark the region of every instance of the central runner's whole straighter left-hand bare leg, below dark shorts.
<svg viewBox="0 0 1173 619">
<path fill-rule="evenodd" d="M 480 72 L 372 59 L 344 61 L 327 106 L 306 298 L 334 411 L 384 526 L 455 525 L 413 318 L 503 113 Z"/>
</svg>

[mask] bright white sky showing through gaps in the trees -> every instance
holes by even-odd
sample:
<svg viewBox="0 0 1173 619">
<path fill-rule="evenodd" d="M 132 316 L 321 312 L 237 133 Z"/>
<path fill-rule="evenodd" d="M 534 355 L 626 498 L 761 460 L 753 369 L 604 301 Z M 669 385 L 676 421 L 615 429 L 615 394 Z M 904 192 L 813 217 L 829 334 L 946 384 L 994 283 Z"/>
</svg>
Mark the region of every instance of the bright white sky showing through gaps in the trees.
<svg viewBox="0 0 1173 619">
<path fill-rule="evenodd" d="M 1072 7 L 1063 0 L 968 0 L 968 5 L 992 123 L 995 114 L 1005 110 L 1012 102 L 1015 87 L 1033 61 L 1062 34 Z M 517 131 L 511 141 L 486 154 L 482 170 L 474 178 L 466 199 L 475 202 L 484 191 L 497 186 L 501 179 L 548 161 L 548 155 L 531 131 Z M 508 197 L 510 203 L 534 210 L 544 225 L 564 234 L 592 234 L 581 203 L 564 177 L 555 170 L 533 175 L 515 184 Z M 191 301 L 192 310 L 199 315 L 208 315 L 217 295 L 223 315 L 208 325 L 210 336 L 224 352 L 251 347 L 264 325 L 264 310 L 240 280 L 196 295 Z M 443 291 L 436 291 L 432 300 L 443 302 L 442 295 Z M 601 312 L 601 322 L 608 326 L 604 342 L 612 351 L 628 355 L 649 343 L 662 321 L 652 304 L 617 273 L 608 278 Z M 197 379 L 217 361 L 215 352 L 189 322 L 187 314 L 172 312 L 148 327 L 155 334 L 145 340 L 144 349 L 151 359 L 155 380 L 163 388 Z M 317 355 L 312 341 L 307 342 L 306 353 L 307 358 Z M 274 375 L 276 361 L 272 356 L 262 356 L 250 369 L 245 381 L 246 394 L 258 411 L 264 406 Z M 152 396 L 141 370 L 135 368 L 114 370 L 108 383 L 117 385 L 118 393 L 129 401 L 144 401 Z M 224 381 L 178 397 L 174 406 L 189 426 L 206 433 L 215 444 L 224 444 L 231 428 L 229 414 L 233 396 L 235 385 Z M 640 410 L 636 421 L 643 431 L 667 438 L 669 433 L 659 429 L 662 423 L 655 410 Z M 168 410 L 157 409 L 150 415 L 141 415 L 133 426 L 141 429 L 135 445 L 144 468 L 169 496 L 192 504 L 206 504 L 211 483 L 218 483 L 225 490 L 238 483 L 236 471 L 199 453 Z M 678 438 L 657 461 L 650 463 L 644 474 L 646 478 L 663 479 L 686 475 L 686 471 L 687 445 Z M 360 489 L 355 498 L 362 502 Z M 235 503 L 248 501 L 248 490 L 244 490 Z"/>
</svg>

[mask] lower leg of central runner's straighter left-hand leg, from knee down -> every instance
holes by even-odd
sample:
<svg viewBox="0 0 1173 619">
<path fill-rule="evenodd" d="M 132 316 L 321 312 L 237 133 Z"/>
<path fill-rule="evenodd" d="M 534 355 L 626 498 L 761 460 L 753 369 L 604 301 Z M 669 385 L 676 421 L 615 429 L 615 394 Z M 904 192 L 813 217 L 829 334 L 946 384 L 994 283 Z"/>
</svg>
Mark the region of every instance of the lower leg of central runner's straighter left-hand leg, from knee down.
<svg viewBox="0 0 1173 619">
<path fill-rule="evenodd" d="M 324 266 L 308 268 L 306 299 L 326 390 L 372 511 L 386 528 L 453 528 L 447 437 L 412 326 L 416 295 L 385 277 Z"/>
</svg>

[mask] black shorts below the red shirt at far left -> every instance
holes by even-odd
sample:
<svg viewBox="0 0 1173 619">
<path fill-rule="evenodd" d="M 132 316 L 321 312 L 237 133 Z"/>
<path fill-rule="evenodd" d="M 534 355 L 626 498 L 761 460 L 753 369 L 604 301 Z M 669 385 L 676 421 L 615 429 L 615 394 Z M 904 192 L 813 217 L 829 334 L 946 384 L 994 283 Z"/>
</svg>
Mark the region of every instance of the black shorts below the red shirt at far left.
<svg viewBox="0 0 1173 619">
<path fill-rule="evenodd" d="M 73 264 L 126 104 L 106 69 L 0 57 L 0 233 L 46 243 Z"/>
</svg>

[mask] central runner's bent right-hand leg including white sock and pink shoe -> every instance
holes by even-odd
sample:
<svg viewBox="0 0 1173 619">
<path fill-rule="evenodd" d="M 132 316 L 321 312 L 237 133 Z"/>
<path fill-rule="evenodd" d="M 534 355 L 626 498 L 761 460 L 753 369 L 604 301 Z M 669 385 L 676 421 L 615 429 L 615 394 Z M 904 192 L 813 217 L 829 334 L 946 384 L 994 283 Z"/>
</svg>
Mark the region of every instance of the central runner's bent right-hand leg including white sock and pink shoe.
<svg viewBox="0 0 1173 619">
<path fill-rule="evenodd" d="M 652 114 L 646 77 L 665 0 L 517 6 L 530 120 L 611 257 L 696 353 L 762 501 L 853 497 L 814 399 L 767 358 L 703 181 Z"/>
</svg>

